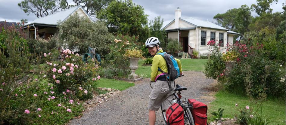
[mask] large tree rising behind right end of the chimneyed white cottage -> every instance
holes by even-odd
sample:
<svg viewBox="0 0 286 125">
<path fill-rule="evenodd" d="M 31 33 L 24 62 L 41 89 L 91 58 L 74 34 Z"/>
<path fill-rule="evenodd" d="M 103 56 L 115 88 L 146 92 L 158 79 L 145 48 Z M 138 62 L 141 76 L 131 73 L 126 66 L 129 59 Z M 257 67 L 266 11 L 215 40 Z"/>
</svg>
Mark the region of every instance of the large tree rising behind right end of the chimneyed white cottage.
<svg viewBox="0 0 286 125">
<path fill-rule="evenodd" d="M 234 8 L 223 14 L 216 14 L 213 17 L 213 19 L 216 20 L 216 24 L 240 33 L 239 40 L 243 37 L 245 32 L 249 31 L 248 25 L 252 18 L 250 8 L 247 5 L 241 5 L 240 8 Z"/>
</svg>

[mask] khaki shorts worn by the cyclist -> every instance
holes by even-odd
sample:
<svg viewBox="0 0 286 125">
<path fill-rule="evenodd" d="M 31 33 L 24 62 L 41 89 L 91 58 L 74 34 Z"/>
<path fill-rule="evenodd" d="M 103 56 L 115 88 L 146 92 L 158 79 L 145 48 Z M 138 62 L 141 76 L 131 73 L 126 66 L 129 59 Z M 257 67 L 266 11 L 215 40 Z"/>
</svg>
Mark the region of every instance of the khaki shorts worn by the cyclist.
<svg viewBox="0 0 286 125">
<path fill-rule="evenodd" d="M 171 81 L 171 86 L 174 88 L 173 81 Z M 148 109 L 158 111 L 162 105 L 161 110 L 167 110 L 172 105 L 174 93 L 169 89 L 168 82 L 158 80 L 152 87 L 153 89 L 149 95 Z"/>
</svg>

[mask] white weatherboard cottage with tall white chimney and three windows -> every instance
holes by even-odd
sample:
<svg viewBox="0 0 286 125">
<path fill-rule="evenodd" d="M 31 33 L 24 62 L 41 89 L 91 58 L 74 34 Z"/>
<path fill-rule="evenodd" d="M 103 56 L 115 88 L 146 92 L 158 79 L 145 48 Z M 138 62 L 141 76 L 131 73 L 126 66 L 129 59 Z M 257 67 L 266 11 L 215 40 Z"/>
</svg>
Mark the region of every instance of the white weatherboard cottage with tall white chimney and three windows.
<svg viewBox="0 0 286 125">
<path fill-rule="evenodd" d="M 181 12 L 179 8 L 175 10 L 175 19 L 164 21 L 162 30 L 165 29 L 168 38 L 178 39 L 182 52 L 191 55 L 192 50 L 197 50 L 199 56 L 208 55 L 211 53 L 207 47 L 210 40 L 219 42 L 221 49 L 225 51 L 227 44 L 233 44 L 233 37 L 239 35 L 209 21 L 181 17 Z"/>
</svg>

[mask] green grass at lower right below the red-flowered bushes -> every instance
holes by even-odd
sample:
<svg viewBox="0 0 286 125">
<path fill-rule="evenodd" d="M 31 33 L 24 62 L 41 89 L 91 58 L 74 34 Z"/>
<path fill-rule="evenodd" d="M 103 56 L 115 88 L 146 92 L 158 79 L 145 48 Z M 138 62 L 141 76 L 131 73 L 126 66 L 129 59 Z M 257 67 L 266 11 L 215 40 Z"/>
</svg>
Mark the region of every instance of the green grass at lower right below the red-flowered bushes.
<svg viewBox="0 0 286 125">
<path fill-rule="evenodd" d="M 235 103 L 241 108 L 245 108 L 246 105 L 249 105 L 253 108 L 253 111 L 258 110 L 258 105 L 255 102 L 250 102 L 250 100 L 241 95 L 228 93 L 224 91 L 219 91 L 216 93 L 216 100 L 210 103 L 208 109 L 208 123 L 213 118 L 210 112 L 217 112 L 219 108 L 224 108 L 223 117 L 233 118 L 235 114 L 239 114 L 238 106 L 235 106 Z M 261 111 L 261 110 L 260 110 Z M 260 114 L 260 111 L 257 112 Z M 280 99 L 268 99 L 263 102 L 262 106 L 262 116 L 264 118 L 272 117 L 271 124 L 285 125 L 285 101 Z"/>
</svg>

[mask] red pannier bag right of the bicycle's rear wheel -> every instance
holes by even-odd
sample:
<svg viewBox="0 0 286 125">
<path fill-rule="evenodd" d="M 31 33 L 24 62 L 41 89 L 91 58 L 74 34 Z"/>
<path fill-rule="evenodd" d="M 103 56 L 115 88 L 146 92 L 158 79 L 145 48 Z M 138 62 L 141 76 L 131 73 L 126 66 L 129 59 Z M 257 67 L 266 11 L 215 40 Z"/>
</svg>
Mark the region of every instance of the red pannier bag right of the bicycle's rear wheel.
<svg viewBox="0 0 286 125">
<path fill-rule="evenodd" d="M 191 113 L 195 125 L 207 125 L 207 105 L 195 99 L 188 99 L 188 102 L 193 105 Z"/>
</svg>

